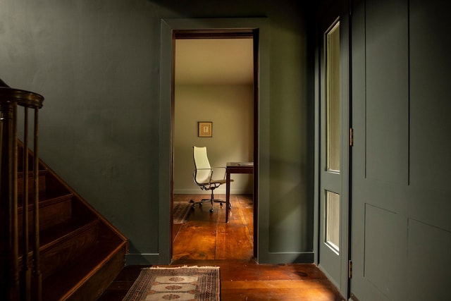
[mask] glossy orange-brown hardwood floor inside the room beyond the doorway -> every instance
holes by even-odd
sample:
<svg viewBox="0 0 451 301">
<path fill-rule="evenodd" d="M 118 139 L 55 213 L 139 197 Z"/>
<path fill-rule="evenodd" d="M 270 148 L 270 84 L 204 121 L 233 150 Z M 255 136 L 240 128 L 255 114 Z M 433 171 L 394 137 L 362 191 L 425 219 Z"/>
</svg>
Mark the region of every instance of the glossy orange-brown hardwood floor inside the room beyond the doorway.
<svg viewBox="0 0 451 301">
<path fill-rule="evenodd" d="M 175 195 L 174 200 L 190 202 L 208 195 Z M 226 195 L 215 198 L 226 199 Z M 173 229 L 173 261 L 178 259 L 245 259 L 254 257 L 252 195 L 231 195 L 228 223 L 226 204 L 195 205 L 189 219 L 177 232 Z"/>
</svg>

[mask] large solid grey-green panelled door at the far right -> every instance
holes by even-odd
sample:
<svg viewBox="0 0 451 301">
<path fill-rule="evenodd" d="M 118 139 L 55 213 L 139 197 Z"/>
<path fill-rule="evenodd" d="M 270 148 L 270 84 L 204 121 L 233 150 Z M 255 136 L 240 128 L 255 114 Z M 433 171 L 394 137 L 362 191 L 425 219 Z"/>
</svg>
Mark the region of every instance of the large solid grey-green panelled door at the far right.
<svg viewBox="0 0 451 301">
<path fill-rule="evenodd" d="M 443 112 L 451 91 L 443 79 L 451 46 L 441 35 L 450 6 L 366 0 L 352 10 L 351 295 L 359 300 L 449 298 L 451 123 Z"/>
</svg>

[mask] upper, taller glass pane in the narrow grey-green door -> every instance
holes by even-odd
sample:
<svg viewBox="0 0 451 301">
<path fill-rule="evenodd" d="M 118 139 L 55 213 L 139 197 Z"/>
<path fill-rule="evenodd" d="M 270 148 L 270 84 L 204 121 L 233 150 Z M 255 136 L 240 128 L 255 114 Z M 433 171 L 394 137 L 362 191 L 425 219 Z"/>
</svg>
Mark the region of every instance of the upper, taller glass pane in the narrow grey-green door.
<svg viewBox="0 0 451 301">
<path fill-rule="evenodd" d="M 340 171 L 340 22 L 326 32 L 326 163 Z"/>
</svg>

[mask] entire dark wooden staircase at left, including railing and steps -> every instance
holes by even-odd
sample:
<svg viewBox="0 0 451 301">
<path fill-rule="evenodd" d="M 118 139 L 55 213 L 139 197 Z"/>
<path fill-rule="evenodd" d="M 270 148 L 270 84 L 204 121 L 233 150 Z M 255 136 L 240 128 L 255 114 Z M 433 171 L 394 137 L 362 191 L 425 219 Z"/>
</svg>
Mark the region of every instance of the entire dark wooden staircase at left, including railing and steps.
<svg viewBox="0 0 451 301">
<path fill-rule="evenodd" d="M 0 300 L 97 300 L 123 269 L 128 240 L 35 159 L 43 101 L 0 79 Z"/>
</svg>

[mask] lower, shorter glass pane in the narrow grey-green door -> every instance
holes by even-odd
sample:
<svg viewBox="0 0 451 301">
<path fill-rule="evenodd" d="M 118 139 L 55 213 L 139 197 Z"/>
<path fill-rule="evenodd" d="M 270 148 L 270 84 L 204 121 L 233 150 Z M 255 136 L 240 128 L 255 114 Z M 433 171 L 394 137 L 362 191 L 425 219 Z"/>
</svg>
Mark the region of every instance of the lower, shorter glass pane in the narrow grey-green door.
<svg viewBox="0 0 451 301">
<path fill-rule="evenodd" d="M 340 195 L 326 190 L 326 245 L 340 252 Z"/>
</svg>

